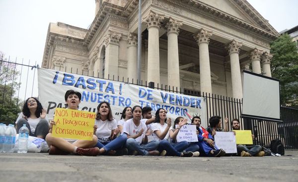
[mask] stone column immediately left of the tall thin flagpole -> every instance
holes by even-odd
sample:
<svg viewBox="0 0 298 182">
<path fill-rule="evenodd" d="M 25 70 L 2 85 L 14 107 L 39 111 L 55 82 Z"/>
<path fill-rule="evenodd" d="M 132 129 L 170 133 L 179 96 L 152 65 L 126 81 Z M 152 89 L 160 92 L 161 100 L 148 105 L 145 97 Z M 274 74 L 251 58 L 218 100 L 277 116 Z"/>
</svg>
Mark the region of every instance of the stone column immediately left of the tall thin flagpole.
<svg viewBox="0 0 298 182">
<path fill-rule="evenodd" d="M 130 33 L 127 46 L 127 77 L 134 82 L 138 79 L 138 35 Z"/>
</svg>

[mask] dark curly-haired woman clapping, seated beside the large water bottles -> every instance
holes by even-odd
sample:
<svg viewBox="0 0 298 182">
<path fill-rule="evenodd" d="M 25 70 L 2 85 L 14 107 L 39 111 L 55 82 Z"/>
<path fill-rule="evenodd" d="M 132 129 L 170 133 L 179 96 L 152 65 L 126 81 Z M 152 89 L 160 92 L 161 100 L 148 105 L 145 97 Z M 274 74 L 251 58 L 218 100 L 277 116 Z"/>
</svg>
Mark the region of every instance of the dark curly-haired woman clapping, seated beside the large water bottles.
<svg viewBox="0 0 298 182">
<path fill-rule="evenodd" d="M 47 111 L 42 108 L 37 98 L 29 97 L 24 102 L 23 110 L 16 119 L 16 133 L 18 134 L 23 124 L 29 129 L 29 135 L 45 139 L 49 133 Z"/>
</svg>

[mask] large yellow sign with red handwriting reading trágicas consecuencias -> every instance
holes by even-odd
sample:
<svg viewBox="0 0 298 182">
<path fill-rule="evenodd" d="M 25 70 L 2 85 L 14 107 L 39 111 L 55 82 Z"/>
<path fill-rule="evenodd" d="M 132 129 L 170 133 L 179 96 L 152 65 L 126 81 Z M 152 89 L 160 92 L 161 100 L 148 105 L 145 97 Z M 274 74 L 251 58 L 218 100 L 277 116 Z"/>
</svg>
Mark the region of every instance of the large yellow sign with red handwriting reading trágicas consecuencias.
<svg viewBox="0 0 298 182">
<path fill-rule="evenodd" d="M 92 140 L 95 113 L 56 108 L 52 136 Z"/>
</svg>

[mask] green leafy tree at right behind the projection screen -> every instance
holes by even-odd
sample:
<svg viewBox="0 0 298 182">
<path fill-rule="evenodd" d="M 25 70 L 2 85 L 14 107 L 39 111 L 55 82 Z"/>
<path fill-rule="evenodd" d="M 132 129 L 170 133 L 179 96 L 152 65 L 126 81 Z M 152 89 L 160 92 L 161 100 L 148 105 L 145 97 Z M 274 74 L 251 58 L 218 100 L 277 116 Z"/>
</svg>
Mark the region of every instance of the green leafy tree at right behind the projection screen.
<svg viewBox="0 0 298 182">
<path fill-rule="evenodd" d="M 280 80 L 281 104 L 298 107 L 298 52 L 288 34 L 271 43 L 272 77 Z"/>
</svg>

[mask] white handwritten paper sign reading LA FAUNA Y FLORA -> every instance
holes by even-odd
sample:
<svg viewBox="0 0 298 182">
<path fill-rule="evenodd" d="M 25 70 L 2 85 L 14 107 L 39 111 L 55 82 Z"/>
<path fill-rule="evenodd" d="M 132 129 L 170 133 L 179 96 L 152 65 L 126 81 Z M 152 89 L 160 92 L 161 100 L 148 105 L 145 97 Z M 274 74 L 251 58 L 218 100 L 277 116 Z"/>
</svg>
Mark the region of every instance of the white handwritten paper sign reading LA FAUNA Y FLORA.
<svg viewBox="0 0 298 182">
<path fill-rule="evenodd" d="M 177 128 L 178 125 L 176 125 Z M 176 137 L 177 142 L 180 141 L 188 141 L 188 142 L 195 142 L 198 141 L 198 136 L 197 136 L 197 128 L 195 125 L 183 125 L 179 133 L 177 134 Z"/>
</svg>

